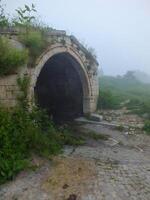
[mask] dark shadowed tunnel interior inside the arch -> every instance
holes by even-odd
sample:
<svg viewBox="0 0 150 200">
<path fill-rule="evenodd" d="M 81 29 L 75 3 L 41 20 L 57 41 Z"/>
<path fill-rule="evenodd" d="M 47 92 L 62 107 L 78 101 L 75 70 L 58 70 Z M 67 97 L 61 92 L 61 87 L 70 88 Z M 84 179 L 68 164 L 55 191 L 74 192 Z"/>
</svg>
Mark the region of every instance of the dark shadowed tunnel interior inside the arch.
<svg viewBox="0 0 150 200">
<path fill-rule="evenodd" d="M 56 122 L 83 114 L 83 88 L 77 67 L 80 64 L 70 54 L 59 53 L 46 62 L 37 79 L 37 104 Z"/>
</svg>

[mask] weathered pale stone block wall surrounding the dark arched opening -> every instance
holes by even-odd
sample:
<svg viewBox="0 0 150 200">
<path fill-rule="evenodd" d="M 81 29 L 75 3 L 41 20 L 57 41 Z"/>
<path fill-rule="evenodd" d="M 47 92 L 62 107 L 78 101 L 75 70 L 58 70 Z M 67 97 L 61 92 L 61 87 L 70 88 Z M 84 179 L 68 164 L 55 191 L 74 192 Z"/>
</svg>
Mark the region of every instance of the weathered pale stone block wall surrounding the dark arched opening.
<svg viewBox="0 0 150 200">
<path fill-rule="evenodd" d="M 17 33 L 11 32 L 7 34 L 13 41 L 13 44 L 20 48 L 16 37 Z M 83 87 L 83 112 L 94 112 L 96 110 L 98 97 L 98 63 L 95 58 L 74 36 L 66 35 L 65 31 L 50 31 L 47 35 L 47 42 L 49 46 L 37 59 L 34 68 L 27 68 L 27 66 L 24 66 L 22 70 L 16 74 L 0 78 L 0 104 L 6 106 L 15 105 L 16 94 L 18 93 L 16 79 L 18 75 L 20 76 L 23 74 L 27 74 L 30 77 L 28 98 L 30 103 L 33 104 L 34 87 L 36 86 L 37 78 L 44 64 L 56 54 L 68 53 L 79 63 L 76 70 L 78 71 Z"/>
</svg>

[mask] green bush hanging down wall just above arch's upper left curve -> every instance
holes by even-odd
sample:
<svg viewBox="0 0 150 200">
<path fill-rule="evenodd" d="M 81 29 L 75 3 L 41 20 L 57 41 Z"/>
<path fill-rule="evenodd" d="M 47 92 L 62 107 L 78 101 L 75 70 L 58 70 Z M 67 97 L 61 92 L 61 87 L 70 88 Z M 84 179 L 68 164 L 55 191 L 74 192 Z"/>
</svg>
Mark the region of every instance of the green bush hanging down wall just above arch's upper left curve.
<svg viewBox="0 0 150 200">
<path fill-rule="evenodd" d="M 28 48 L 30 53 L 30 66 L 46 46 L 44 36 L 40 31 L 31 31 L 20 36 L 20 41 Z"/>
</svg>

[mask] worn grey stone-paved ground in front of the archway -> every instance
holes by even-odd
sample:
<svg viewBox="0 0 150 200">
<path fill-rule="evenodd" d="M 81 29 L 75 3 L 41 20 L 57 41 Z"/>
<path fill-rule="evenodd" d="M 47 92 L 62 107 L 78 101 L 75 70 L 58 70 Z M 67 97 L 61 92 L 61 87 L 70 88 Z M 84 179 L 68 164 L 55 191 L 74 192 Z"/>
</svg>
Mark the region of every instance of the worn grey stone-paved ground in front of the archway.
<svg viewBox="0 0 150 200">
<path fill-rule="evenodd" d="M 109 134 L 110 139 L 66 147 L 61 159 L 67 162 L 46 162 L 36 172 L 19 175 L 0 187 L 0 200 L 72 200 L 69 194 L 77 200 L 150 200 L 150 137 L 98 125 L 84 127 Z M 51 177 L 56 177 L 55 184 L 50 182 L 45 188 Z"/>
</svg>

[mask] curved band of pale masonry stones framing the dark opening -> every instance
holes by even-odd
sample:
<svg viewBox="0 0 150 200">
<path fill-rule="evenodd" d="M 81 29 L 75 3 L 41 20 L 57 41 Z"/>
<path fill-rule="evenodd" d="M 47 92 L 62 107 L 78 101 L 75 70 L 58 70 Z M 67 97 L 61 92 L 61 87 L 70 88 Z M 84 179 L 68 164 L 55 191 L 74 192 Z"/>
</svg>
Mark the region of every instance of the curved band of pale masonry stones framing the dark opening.
<svg viewBox="0 0 150 200">
<path fill-rule="evenodd" d="M 92 96 L 92 87 L 91 82 L 88 78 L 87 71 L 85 70 L 84 62 L 82 58 L 80 57 L 78 52 L 75 52 L 71 47 L 69 46 L 53 46 L 47 49 L 46 52 L 44 52 L 40 58 L 38 59 L 38 62 L 35 66 L 34 73 L 31 74 L 31 84 L 30 84 L 30 90 L 29 90 L 29 100 L 34 100 L 34 88 L 36 87 L 37 78 L 40 75 L 40 72 L 42 68 L 44 67 L 45 63 L 50 60 L 54 55 L 67 53 L 68 56 L 72 56 L 77 62 L 78 65 L 74 65 L 75 69 L 77 70 L 80 80 L 83 87 L 83 112 L 87 113 L 87 104 L 88 99 Z M 33 101 L 34 102 L 34 101 Z"/>
</svg>

